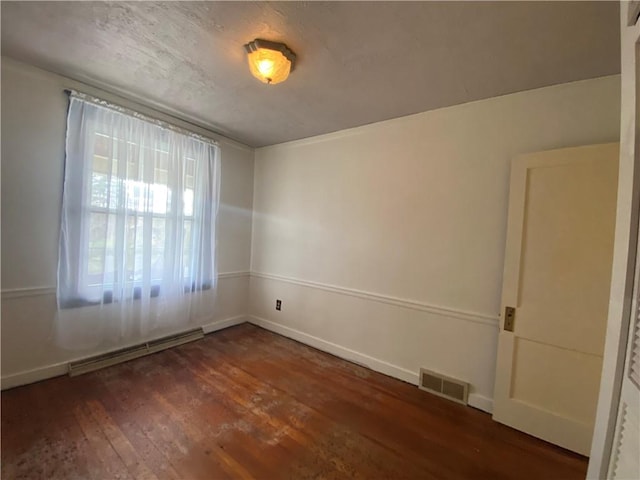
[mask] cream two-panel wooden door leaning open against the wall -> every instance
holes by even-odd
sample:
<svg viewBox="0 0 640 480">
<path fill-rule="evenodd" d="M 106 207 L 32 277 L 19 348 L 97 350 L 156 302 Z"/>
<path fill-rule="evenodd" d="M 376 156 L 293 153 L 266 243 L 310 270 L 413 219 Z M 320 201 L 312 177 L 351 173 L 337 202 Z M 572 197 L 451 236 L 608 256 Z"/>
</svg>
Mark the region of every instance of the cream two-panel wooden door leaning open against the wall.
<svg viewBox="0 0 640 480">
<path fill-rule="evenodd" d="M 617 176 L 618 144 L 527 154 L 511 169 L 493 418 L 583 455 L 598 400 Z"/>
</svg>

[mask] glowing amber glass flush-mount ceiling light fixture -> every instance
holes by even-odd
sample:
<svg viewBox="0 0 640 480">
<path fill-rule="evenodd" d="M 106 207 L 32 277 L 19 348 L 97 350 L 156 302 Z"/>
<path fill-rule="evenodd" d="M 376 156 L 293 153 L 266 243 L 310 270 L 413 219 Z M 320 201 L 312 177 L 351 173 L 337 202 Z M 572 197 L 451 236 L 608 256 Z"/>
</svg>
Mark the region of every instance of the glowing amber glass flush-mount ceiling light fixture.
<svg viewBox="0 0 640 480">
<path fill-rule="evenodd" d="M 251 74 L 263 83 L 284 82 L 293 70 L 296 54 L 284 43 L 256 38 L 244 46 Z"/>
</svg>

